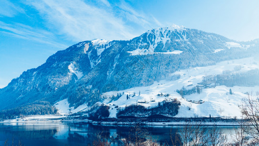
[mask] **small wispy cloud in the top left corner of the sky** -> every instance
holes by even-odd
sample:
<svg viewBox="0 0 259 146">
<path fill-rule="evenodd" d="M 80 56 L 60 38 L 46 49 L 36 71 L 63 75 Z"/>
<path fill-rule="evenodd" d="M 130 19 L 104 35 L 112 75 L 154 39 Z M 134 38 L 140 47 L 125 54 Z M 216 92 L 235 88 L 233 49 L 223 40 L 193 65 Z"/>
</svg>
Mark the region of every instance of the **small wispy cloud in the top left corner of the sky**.
<svg viewBox="0 0 259 146">
<path fill-rule="evenodd" d="M 0 0 L 0 17 L 14 17 L 19 13 L 24 13 L 24 10 L 8 0 Z"/>
</svg>

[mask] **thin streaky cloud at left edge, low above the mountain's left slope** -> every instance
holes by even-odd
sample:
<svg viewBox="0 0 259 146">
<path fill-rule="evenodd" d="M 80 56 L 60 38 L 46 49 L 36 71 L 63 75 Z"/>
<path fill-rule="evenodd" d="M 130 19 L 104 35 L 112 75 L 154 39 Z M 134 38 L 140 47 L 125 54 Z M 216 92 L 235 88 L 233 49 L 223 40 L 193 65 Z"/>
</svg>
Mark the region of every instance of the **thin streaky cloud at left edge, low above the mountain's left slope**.
<svg viewBox="0 0 259 146">
<path fill-rule="evenodd" d="M 28 39 L 32 41 L 37 41 L 44 44 L 49 44 L 57 48 L 66 48 L 67 46 L 61 43 L 57 43 L 53 41 L 53 34 L 42 30 L 32 28 L 28 25 L 14 23 L 14 24 L 7 24 L 0 21 L 0 32 L 2 34 L 6 34 L 9 36 Z"/>
</svg>

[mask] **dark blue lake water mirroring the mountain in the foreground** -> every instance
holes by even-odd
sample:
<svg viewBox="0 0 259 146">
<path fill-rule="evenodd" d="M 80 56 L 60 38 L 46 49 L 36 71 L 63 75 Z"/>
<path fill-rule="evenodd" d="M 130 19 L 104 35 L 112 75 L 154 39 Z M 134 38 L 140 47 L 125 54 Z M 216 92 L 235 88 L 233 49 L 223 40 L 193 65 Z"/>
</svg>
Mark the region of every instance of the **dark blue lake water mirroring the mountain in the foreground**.
<svg viewBox="0 0 259 146">
<path fill-rule="evenodd" d="M 181 127 L 141 127 L 150 137 L 161 144 L 170 144 L 170 133 L 175 133 Z M 209 127 L 210 128 L 210 127 Z M 234 127 L 221 127 L 223 132 L 233 132 Z M 97 135 L 102 137 L 118 136 L 113 146 L 122 145 L 121 140 L 129 136 L 134 128 L 129 126 L 95 126 L 86 123 L 62 122 L 27 122 L 0 123 L 0 146 L 7 142 L 22 146 L 92 146 L 97 141 Z M 175 136 L 175 135 L 173 135 Z"/>
</svg>

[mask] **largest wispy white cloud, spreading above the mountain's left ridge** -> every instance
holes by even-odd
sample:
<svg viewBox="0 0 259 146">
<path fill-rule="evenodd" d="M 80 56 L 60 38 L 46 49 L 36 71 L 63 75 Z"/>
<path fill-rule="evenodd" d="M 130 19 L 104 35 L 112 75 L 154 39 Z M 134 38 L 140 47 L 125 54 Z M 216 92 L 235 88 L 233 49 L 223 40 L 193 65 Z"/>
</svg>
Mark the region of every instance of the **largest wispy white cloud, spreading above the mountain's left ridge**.
<svg viewBox="0 0 259 146">
<path fill-rule="evenodd" d="M 73 41 L 130 39 L 140 35 L 136 25 L 143 30 L 157 25 L 152 17 L 149 19 L 124 1 L 116 5 L 111 5 L 107 0 L 97 2 L 104 6 L 83 0 L 30 0 L 27 4 L 39 11 L 49 28 Z"/>
</svg>

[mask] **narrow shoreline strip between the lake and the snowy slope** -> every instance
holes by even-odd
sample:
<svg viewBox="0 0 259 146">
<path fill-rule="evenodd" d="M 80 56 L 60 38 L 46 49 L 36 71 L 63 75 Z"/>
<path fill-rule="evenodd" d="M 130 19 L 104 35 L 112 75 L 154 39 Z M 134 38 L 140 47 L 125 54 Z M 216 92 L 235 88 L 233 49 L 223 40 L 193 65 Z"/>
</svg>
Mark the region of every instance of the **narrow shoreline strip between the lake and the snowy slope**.
<svg viewBox="0 0 259 146">
<path fill-rule="evenodd" d="M 67 115 L 37 115 L 24 118 L 0 121 L 1 123 L 29 123 L 29 122 L 62 122 L 62 123 L 89 123 L 101 126 L 129 126 L 139 124 L 143 126 L 239 126 L 240 119 L 220 118 L 176 118 L 176 119 L 97 119 L 90 120 L 87 117 L 68 117 Z"/>
</svg>

